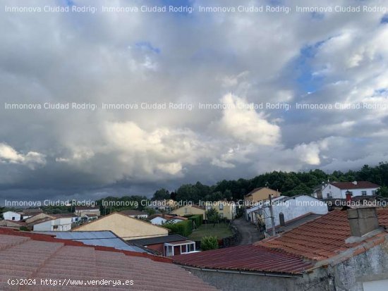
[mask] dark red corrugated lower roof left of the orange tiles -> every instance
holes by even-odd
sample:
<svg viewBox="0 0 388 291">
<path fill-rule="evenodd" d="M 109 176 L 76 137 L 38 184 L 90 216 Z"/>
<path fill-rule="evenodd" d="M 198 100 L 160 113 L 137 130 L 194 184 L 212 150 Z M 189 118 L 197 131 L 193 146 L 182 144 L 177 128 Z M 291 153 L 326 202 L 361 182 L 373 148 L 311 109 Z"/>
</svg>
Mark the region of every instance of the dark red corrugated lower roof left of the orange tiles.
<svg viewBox="0 0 388 291">
<path fill-rule="evenodd" d="M 305 268 L 313 266 L 312 263 L 293 254 L 252 244 L 181 254 L 171 258 L 175 263 L 184 266 L 229 271 L 298 274 Z"/>
</svg>

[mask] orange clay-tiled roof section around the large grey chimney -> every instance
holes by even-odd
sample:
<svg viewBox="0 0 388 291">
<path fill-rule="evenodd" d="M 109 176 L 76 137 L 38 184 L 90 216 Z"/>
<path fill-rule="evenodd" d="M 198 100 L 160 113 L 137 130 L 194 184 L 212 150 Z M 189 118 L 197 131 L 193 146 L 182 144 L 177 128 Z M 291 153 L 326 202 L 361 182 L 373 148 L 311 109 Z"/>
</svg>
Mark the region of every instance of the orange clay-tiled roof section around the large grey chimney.
<svg viewBox="0 0 388 291">
<path fill-rule="evenodd" d="M 377 213 L 380 225 L 387 227 L 388 209 L 379 209 Z M 347 212 L 334 210 L 289 232 L 255 244 L 320 261 L 360 244 L 346 244 L 345 240 L 350 236 Z"/>
</svg>

